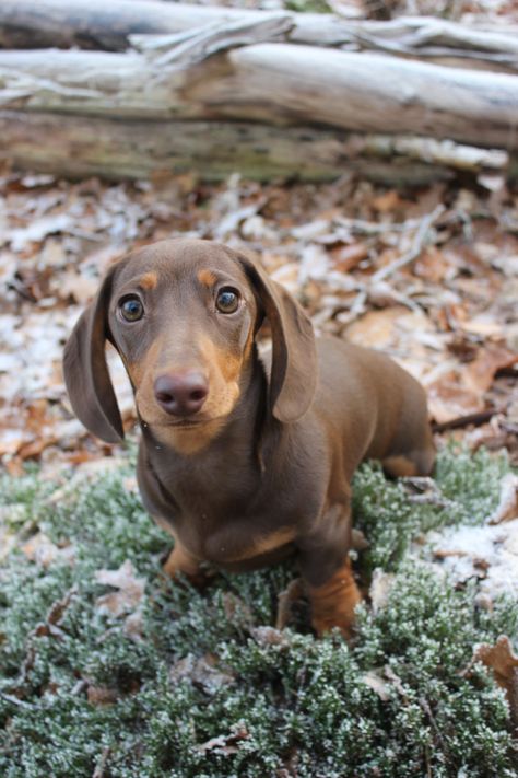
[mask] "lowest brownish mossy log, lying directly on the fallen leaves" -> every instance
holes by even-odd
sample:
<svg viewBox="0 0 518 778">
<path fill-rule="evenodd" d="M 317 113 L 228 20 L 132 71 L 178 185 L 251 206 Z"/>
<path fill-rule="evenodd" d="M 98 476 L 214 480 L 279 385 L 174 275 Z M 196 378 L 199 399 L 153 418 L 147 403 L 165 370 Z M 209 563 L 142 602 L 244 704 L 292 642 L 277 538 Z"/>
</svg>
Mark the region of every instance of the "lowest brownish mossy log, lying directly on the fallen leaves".
<svg viewBox="0 0 518 778">
<path fill-rule="evenodd" d="M 450 178 L 455 169 L 502 172 L 508 162 L 497 150 L 429 138 L 12 111 L 0 111 L 0 162 L 72 178 L 153 178 L 193 171 L 202 179 L 220 181 L 239 171 L 259 181 L 332 181 L 352 171 L 390 186 L 422 186 Z"/>
</svg>

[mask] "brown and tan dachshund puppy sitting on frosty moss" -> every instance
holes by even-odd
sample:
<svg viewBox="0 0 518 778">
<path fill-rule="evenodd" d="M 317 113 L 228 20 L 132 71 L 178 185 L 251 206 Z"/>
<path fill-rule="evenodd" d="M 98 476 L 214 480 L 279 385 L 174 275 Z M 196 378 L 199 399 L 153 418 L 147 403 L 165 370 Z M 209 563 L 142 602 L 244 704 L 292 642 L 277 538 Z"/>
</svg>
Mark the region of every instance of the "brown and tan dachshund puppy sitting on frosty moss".
<svg viewBox="0 0 518 778">
<path fill-rule="evenodd" d="M 272 352 L 258 357 L 263 318 Z M 435 449 L 422 387 L 376 351 L 315 342 L 295 300 L 249 258 L 170 240 L 114 265 L 64 352 L 74 411 L 123 437 L 105 341 L 120 353 L 142 428 L 145 508 L 175 537 L 165 569 L 193 580 L 296 551 L 318 632 L 349 637 L 360 593 L 349 558 L 351 478 L 362 460 L 424 475 Z"/>
</svg>

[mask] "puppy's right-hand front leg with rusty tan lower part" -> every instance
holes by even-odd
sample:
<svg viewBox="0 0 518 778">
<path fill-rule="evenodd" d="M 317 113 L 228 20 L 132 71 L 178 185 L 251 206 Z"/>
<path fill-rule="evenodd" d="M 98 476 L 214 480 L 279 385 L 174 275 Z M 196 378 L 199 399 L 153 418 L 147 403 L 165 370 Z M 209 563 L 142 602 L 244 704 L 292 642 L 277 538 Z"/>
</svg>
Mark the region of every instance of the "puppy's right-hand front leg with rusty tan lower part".
<svg viewBox="0 0 518 778">
<path fill-rule="evenodd" d="M 349 557 L 350 514 L 349 502 L 334 504 L 318 527 L 297 544 L 314 629 L 323 635 L 338 627 L 346 640 L 352 637 L 354 609 L 362 600 Z"/>
</svg>

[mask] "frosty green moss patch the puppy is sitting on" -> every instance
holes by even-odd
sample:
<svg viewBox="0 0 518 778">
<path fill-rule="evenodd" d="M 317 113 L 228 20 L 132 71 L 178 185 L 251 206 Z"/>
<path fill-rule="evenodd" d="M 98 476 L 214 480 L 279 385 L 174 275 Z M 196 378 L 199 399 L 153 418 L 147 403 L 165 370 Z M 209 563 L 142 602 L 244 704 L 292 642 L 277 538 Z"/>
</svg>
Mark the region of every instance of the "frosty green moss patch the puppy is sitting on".
<svg viewBox="0 0 518 778">
<path fill-rule="evenodd" d="M 293 565 L 217 576 L 203 593 L 164 582 L 169 541 L 125 488 L 131 469 L 61 486 L 58 500 L 35 473 L 4 478 L 9 531 L 44 532 L 73 555 L 44 567 L 14 550 L 0 569 L 0 775 L 516 776 L 502 692 L 482 666 L 463 672 L 474 643 L 518 638 L 516 603 L 481 611 L 469 587 L 405 558 L 429 527 L 482 521 L 506 468 L 446 450 L 434 504 L 361 469 L 360 564 L 396 577 L 384 607 L 361 608 L 352 649 L 315 640 L 304 611 L 296 629 L 271 628 Z M 146 580 L 137 634 L 96 607 L 107 587 L 95 572 L 127 559 Z"/>
</svg>

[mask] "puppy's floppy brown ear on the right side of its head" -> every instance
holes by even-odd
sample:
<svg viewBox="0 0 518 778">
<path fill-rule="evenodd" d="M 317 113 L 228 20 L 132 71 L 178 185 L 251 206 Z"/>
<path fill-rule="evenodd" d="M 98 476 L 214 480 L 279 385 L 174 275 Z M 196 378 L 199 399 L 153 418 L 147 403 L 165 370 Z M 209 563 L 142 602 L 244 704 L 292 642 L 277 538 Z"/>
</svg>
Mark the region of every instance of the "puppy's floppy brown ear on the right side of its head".
<svg viewBox="0 0 518 778">
<path fill-rule="evenodd" d="M 251 259 L 239 262 L 272 330 L 270 408 L 279 421 L 296 421 L 311 405 L 317 386 L 317 351 L 311 322 L 296 300 Z"/>
</svg>

